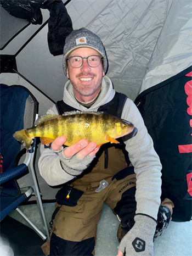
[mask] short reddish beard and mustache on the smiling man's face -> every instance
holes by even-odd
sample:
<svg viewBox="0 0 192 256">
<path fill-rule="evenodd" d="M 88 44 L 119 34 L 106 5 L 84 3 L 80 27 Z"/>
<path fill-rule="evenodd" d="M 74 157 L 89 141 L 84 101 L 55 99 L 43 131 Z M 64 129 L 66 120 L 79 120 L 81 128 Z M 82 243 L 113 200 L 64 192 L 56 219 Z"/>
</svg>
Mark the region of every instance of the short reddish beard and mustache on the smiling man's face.
<svg viewBox="0 0 192 256">
<path fill-rule="evenodd" d="M 79 77 L 82 77 L 82 76 L 89 76 L 89 77 L 95 77 L 95 75 L 93 74 L 93 73 L 86 73 L 86 74 L 84 74 L 84 73 L 81 73 L 81 74 L 79 74 L 79 75 L 77 75 L 76 76 L 76 78 L 78 79 Z M 78 85 L 76 85 L 74 82 L 72 82 L 71 81 L 71 84 L 72 84 L 72 86 L 74 87 L 74 89 L 81 95 L 81 96 L 92 96 L 95 92 L 97 92 L 98 91 L 98 89 L 100 88 L 100 86 L 101 86 L 101 82 L 102 82 L 102 80 L 103 80 L 103 76 L 101 77 L 101 79 L 100 79 L 100 81 L 98 81 L 97 82 L 97 84 L 95 84 L 94 85 L 94 87 L 92 88 L 92 90 L 90 91 L 89 90 L 89 92 L 86 92 L 86 90 L 84 90 L 84 89 L 86 89 L 87 88 L 87 85 L 85 85 L 83 88 L 82 88 L 82 86 L 78 86 Z"/>
</svg>

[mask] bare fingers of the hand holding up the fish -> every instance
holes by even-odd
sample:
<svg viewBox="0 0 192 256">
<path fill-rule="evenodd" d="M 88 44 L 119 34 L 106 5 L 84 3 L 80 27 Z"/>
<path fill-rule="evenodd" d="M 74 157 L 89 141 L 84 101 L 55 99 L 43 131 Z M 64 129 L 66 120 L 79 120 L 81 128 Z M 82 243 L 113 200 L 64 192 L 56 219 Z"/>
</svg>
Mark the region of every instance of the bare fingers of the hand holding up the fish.
<svg viewBox="0 0 192 256">
<path fill-rule="evenodd" d="M 59 151 L 65 142 L 66 142 L 65 136 L 60 136 L 56 138 L 52 142 L 52 149 L 54 151 Z M 75 154 L 77 154 L 77 158 L 82 160 L 87 155 L 89 155 L 90 157 L 94 157 L 94 155 L 99 151 L 99 148 L 97 148 L 94 151 L 96 147 L 97 147 L 97 144 L 95 142 L 92 141 L 88 143 L 88 141 L 83 138 L 81 141 L 78 141 L 75 144 L 67 147 L 63 152 L 63 154 L 66 158 L 73 157 Z"/>
</svg>

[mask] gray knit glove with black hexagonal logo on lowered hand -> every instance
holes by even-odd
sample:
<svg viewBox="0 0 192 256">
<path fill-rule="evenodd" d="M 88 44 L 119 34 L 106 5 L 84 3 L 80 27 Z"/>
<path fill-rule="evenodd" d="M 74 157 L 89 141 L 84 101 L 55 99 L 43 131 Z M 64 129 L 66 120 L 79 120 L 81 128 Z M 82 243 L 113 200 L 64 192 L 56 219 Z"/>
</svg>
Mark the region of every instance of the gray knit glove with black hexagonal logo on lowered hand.
<svg viewBox="0 0 192 256">
<path fill-rule="evenodd" d="M 153 256 L 153 237 L 157 222 L 148 215 L 134 216 L 135 224 L 122 238 L 118 249 L 130 256 Z"/>
</svg>

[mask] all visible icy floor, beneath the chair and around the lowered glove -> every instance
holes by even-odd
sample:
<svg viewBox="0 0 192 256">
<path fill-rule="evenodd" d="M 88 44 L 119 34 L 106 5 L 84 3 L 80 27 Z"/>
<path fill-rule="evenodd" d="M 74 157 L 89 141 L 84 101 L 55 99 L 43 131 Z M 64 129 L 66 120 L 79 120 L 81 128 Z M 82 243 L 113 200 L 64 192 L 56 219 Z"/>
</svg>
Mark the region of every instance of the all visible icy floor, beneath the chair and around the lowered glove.
<svg viewBox="0 0 192 256">
<path fill-rule="evenodd" d="M 49 222 L 54 211 L 54 203 L 43 204 L 43 207 L 47 222 Z M 20 209 L 43 231 L 37 205 L 21 206 Z M 22 220 L 22 217 L 16 211 L 13 211 L 10 216 L 26 224 L 25 220 Z M 117 255 L 116 232 L 118 224 L 117 217 L 108 205 L 104 204 L 98 222 L 95 256 Z M 168 229 L 154 242 L 154 256 L 192 256 L 192 220 L 187 222 L 171 221 Z"/>
</svg>

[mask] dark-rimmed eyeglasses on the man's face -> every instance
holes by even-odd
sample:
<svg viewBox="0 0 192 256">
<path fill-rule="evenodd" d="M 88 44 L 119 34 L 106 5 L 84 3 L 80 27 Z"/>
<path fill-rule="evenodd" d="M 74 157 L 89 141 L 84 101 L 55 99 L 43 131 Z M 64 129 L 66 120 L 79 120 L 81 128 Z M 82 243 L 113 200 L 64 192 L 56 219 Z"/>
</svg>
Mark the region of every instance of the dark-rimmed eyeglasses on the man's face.
<svg viewBox="0 0 192 256">
<path fill-rule="evenodd" d="M 101 59 L 103 59 L 103 57 L 98 55 L 91 55 L 88 57 L 71 56 L 66 60 L 69 60 L 69 63 L 72 66 L 72 68 L 81 68 L 81 66 L 83 65 L 83 59 L 87 59 L 87 63 L 89 66 L 91 66 L 91 68 L 96 68 L 97 66 L 99 66 Z"/>
</svg>

